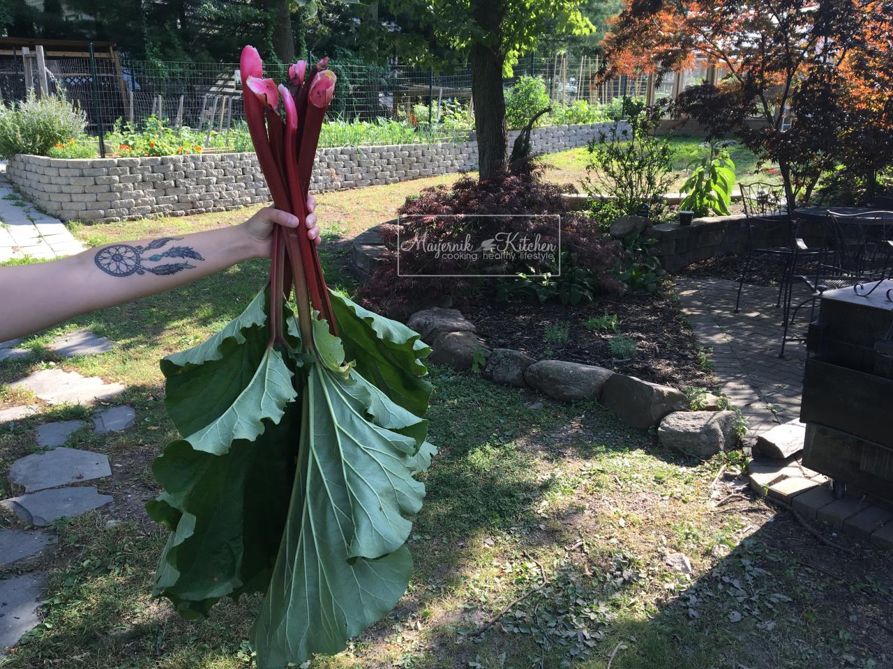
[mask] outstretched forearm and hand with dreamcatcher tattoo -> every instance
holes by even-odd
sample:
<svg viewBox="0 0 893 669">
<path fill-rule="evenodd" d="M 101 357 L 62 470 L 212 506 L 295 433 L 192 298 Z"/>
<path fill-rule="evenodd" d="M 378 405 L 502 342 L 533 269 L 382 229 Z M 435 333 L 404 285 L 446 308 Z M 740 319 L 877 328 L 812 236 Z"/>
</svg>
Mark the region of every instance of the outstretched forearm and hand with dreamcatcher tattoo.
<svg viewBox="0 0 893 669">
<path fill-rule="evenodd" d="M 308 198 L 313 211 L 313 196 Z M 270 207 L 238 226 L 176 237 L 104 244 L 77 255 L 0 267 L 0 342 L 30 335 L 81 313 L 163 293 L 251 258 L 269 258 L 276 225 L 296 216 Z M 316 215 L 307 235 L 319 244 Z"/>
</svg>

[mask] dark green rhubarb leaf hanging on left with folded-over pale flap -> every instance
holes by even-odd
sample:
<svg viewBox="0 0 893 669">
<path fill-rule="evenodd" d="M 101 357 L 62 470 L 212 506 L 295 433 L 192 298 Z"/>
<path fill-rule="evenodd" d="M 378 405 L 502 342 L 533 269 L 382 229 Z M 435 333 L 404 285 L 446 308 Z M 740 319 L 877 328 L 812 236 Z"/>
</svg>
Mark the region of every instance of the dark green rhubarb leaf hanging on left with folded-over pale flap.
<svg viewBox="0 0 893 669">
<path fill-rule="evenodd" d="M 153 465 L 163 493 L 146 508 L 172 531 L 154 593 L 189 617 L 226 595 L 264 591 L 285 525 L 296 391 L 287 361 L 267 348 L 263 305 L 262 293 L 227 335 L 163 361 L 168 409 L 185 438 Z"/>
</svg>

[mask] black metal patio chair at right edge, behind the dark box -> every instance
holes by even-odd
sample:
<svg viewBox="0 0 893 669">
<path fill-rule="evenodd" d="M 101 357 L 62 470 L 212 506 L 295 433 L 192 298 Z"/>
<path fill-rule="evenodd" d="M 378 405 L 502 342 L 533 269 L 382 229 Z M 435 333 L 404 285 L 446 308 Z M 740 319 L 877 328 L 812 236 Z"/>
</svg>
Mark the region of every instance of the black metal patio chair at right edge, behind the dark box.
<svg viewBox="0 0 893 669">
<path fill-rule="evenodd" d="M 790 336 L 790 332 L 800 310 L 807 305 L 807 324 L 813 320 L 816 301 L 823 293 L 852 288 L 857 295 L 868 296 L 885 279 L 893 277 L 893 211 L 828 211 L 826 228 L 822 249 L 810 250 L 819 253 L 814 271 L 792 275 L 788 282 L 779 357 L 784 356 L 787 343 L 804 341 L 804 335 Z M 805 246 L 801 240 L 797 243 Z M 810 294 L 792 307 L 795 282 L 804 284 Z"/>
</svg>

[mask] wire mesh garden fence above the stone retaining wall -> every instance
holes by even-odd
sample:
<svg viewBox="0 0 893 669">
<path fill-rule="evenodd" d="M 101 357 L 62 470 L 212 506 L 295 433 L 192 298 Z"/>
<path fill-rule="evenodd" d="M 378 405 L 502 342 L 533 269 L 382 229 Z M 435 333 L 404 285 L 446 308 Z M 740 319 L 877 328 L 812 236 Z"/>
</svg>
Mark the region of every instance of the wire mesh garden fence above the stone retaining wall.
<svg viewBox="0 0 893 669">
<path fill-rule="evenodd" d="M 4 101 L 21 100 L 29 90 L 46 87 L 51 93 L 66 95 L 85 111 L 92 136 L 120 132 L 127 124 L 143 128 L 154 117 L 178 132 L 189 128 L 191 137 L 204 147 L 250 150 L 250 145 L 238 145 L 239 137 L 243 144 L 247 141 L 244 129 L 240 131 L 245 110 L 238 63 L 138 61 L 121 57 L 111 47 L 96 53 L 48 51 L 46 57 L 42 47 L 38 51 L 39 58 L 28 49 L 0 54 Z M 655 100 L 680 89 L 678 76 L 663 82 L 647 76 L 604 81 L 599 77 L 602 65 L 597 57 L 526 57 L 514 68 L 513 77 L 505 78 L 504 86 L 513 86 L 522 76 L 541 78 L 554 108 L 566 108 L 580 100 L 607 105 L 626 95 Z M 467 136 L 473 127 L 469 69 L 435 72 L 338 62 L 330 67 L 338 75 L 338 86 L 322 145 L 456 139 Z M 268 64 L 266 72 L 277 80 L 287 78 L 286 65 Z M 404 131 L 412 137 L 401 135 Z"/>
</svg>

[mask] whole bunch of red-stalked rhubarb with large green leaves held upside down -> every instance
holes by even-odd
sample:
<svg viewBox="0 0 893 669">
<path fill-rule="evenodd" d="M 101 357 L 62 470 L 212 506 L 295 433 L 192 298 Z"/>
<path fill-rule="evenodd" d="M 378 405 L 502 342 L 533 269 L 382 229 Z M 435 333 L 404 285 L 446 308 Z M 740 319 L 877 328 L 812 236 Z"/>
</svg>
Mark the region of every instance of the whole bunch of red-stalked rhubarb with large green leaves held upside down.
<svg viewBox="0 0 893 669">
<path fill-rule="evenodd" d="M 252 631 L 260 669 L 337 653 L 396 606 L 425 491 L 416 476 L 435 452 L 421 417 L 430 348 L 330 291 L 303 234 L 335 75 L 327 59 L 288 75 L 277 86 L 256 50 L 243 50 L 257 159 L 274 205 L 302 232 L 277 227 L 269 281 L 247 309 L 162 360 L 182 437 L 155 459 L 163 490 L 146 505 L 171 531 L 154 594 L 181 615 L 263 593 Z"/>
</svg>

